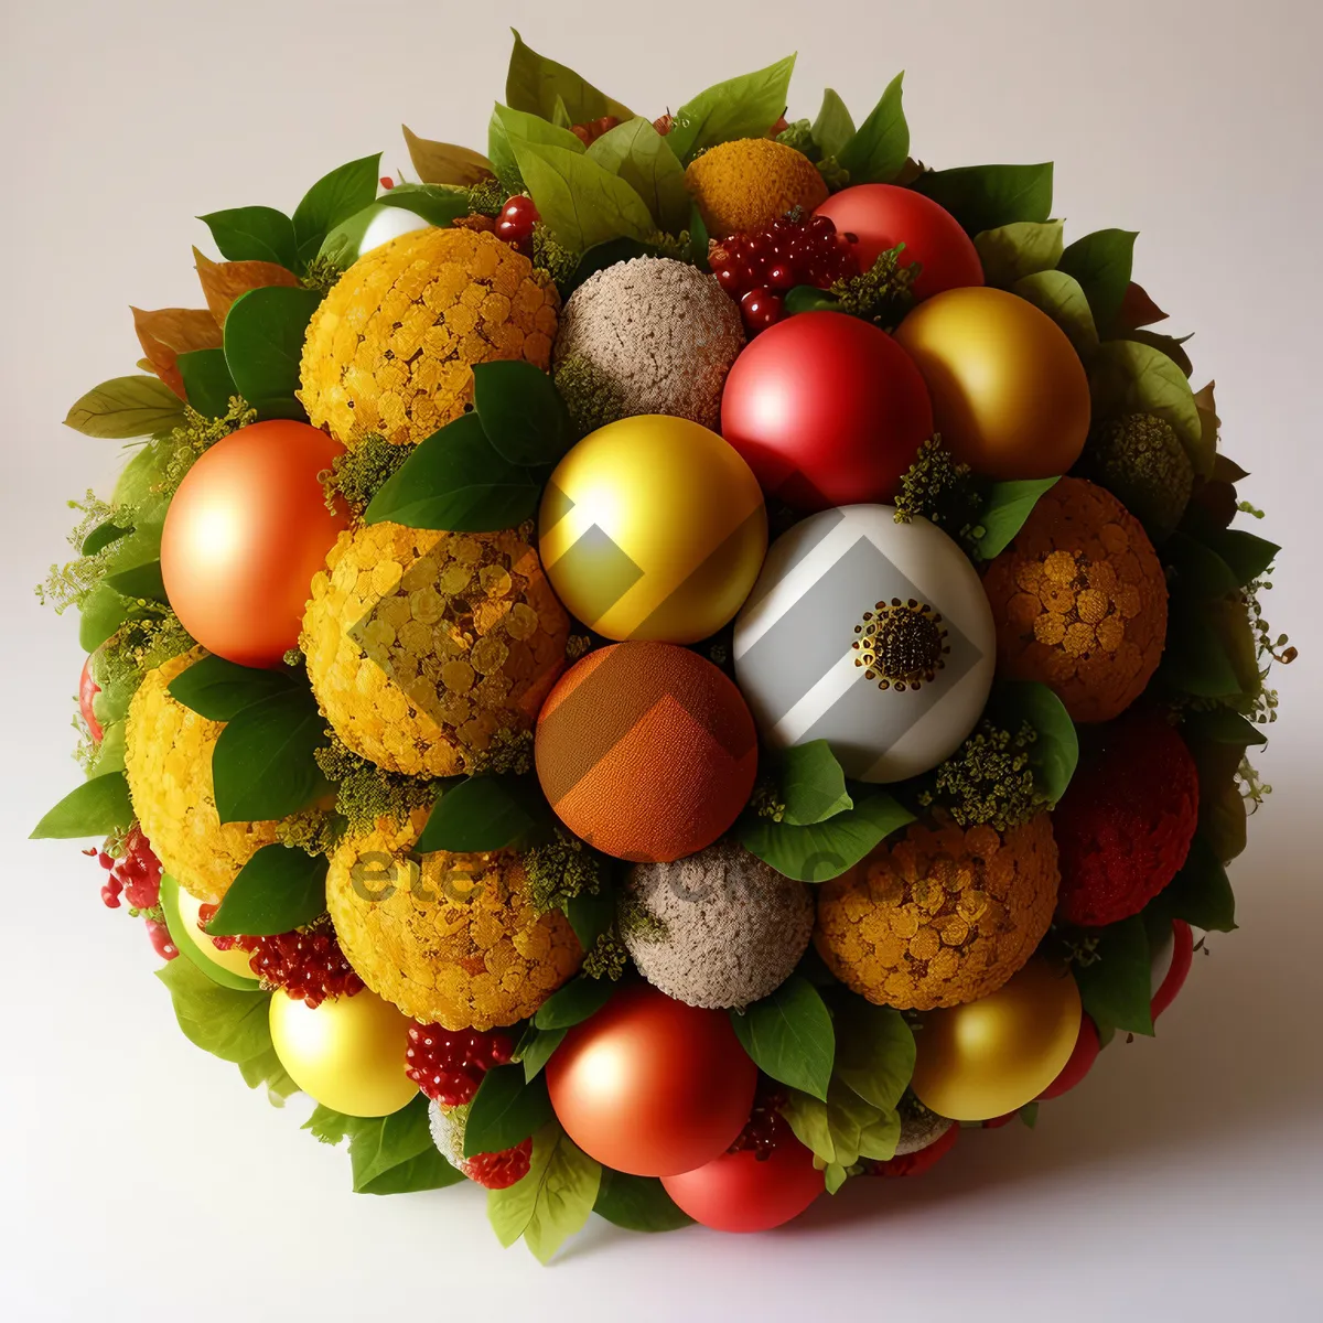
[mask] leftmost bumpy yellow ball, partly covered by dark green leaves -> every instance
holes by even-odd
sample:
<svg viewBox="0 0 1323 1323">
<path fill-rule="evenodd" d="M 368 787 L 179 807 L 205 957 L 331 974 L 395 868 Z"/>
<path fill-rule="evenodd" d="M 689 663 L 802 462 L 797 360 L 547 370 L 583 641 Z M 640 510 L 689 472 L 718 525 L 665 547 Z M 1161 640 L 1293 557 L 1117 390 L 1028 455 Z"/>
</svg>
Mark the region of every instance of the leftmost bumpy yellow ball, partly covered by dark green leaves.
<svg viewBox="0 0 1323 1323">
<path fill-rule="evenodd" d="M 221 824 L 212 750 L 224 722 L 176 703 L 167 685 L 205 656 L 194 648 L 147 675 L 124 724 L 124 773 L 134 811 L 161 868 L 191 896 L 220 900 L 239 869 L 275 841 L 277 824 Z"/>
</svg>

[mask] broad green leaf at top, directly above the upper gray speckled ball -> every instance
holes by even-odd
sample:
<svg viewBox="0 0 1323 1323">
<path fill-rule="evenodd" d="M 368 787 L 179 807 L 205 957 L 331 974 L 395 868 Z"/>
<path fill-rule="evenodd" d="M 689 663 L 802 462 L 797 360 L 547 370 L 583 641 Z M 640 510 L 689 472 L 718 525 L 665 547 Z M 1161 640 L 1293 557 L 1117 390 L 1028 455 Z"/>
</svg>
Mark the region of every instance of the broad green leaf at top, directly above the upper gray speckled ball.
<svg viewBox="0 0 1323 1323">
<path fill-rule="evenodd" d="M 652 237 L 656 226 L 643 198 L 590 156 L 517 138 L 511 147 L 542 224 L 570 251 L 620 237 Z"/>
</svg>

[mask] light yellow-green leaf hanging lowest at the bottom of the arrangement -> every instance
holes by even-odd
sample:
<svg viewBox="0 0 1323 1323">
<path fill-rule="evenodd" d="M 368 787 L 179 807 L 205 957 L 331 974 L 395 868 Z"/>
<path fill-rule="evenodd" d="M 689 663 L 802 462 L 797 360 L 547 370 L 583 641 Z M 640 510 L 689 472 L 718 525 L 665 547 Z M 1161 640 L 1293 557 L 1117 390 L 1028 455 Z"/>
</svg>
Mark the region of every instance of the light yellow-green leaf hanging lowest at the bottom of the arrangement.
<svg viewBox="0 0 1323 1323">
<path fill-rule="evenodd" d="M 508 1189 L 487 1195 L 487 1217 L 501 1245 L 521 1236 L 533 1254 L 548 1262 L 583 1228 L 597 1203 L 602 1168 L 581 1152 L 557 1125 L 533 1136 L 528 1175 Z"/>
</svg>

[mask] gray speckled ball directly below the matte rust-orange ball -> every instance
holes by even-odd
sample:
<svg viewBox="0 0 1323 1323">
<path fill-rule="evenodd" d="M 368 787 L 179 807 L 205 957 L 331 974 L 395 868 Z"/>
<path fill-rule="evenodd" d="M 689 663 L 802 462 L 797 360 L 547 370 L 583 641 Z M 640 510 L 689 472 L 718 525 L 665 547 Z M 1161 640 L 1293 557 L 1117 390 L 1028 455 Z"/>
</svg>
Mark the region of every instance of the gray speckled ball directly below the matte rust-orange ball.
<svg viewBox="0 0 1323 1323">
<path fill-rule="evenodd" d="M 622 935 L 639 972 L 677 1002 L 749 1005 L 794 972 L 814 929 L 810 888 L 733 840 L 672 864 L 638 864 Z"/>
</svg>

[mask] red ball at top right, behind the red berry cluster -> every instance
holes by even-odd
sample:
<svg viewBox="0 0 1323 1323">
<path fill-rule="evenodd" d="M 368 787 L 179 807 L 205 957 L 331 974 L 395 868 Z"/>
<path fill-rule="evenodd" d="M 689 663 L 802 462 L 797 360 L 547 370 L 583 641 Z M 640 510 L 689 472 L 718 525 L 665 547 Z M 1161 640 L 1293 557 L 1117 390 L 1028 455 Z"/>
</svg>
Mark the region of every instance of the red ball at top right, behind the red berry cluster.
<svg viewBox="0 0 1323 1323">
<path fill-rule="evenodd" d="M 916 299 L 983 283 L 983 263 L 960 222 L 912 188 L 856 184 L 833 193 L 814 216 L 831 217 L 837 230 L 859 238 L 856 253 L 865 271 L 878 254 L 904 243 L 901 259 L 922 266 L 914 282 Z"/>
</svg>

